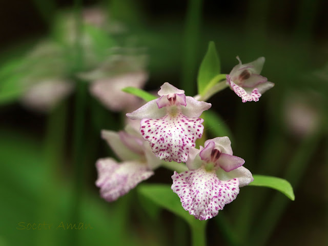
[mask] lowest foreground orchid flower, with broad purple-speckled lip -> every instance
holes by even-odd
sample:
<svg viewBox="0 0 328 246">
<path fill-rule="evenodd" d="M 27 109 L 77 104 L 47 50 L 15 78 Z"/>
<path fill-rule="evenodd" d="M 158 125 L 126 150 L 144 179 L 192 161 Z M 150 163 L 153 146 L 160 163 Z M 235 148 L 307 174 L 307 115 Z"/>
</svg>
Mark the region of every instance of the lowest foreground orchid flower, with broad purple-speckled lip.
<svg viewBox="0 0 328 246">
<path fill-rule="evenodd" d="M 239 187 L 253 181 L 252 173 L 242 167 L 245 161 L 233 155 L 229 137 L 207 140 L 204 146 L 190 150 L 189 171 L 174 172 L 171 187 L 182 207 L 200 220 L 216 216 L 236 199 Z"/>
</svg>

